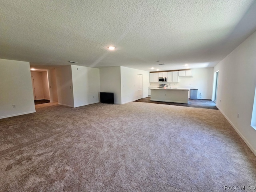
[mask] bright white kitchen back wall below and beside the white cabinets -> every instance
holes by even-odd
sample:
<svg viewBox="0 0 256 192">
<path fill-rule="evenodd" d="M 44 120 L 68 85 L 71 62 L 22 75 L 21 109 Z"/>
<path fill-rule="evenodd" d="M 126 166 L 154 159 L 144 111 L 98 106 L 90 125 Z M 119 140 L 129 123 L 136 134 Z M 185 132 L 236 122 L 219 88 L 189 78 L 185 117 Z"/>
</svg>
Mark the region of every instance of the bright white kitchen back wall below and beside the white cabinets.
<svg viewBox="0 0 256 192">
<path fill-rule="evenodd" d="M 213 68 L 194 68 L 192 76 L 179 77 L 179 82 L 150 83 L 150 87 L 158 87 L 159 84 L 172 84 L 172 88 L 198 89 L 198 99 L 212 100 Z"/>
</svg>

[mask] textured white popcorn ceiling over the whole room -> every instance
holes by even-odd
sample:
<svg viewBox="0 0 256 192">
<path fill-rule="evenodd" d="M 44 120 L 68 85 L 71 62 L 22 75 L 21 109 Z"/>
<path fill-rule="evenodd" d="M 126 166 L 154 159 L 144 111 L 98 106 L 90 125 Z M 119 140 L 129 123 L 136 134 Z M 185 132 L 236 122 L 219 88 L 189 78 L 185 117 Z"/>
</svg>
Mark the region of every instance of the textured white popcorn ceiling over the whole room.
<svg viewBox="0 0 256 192">
<path fill-rule="evenodd" d="M 147 71 L 183 69 L 185 64 L 212 67 L 256 30 L 255 4 L 255 0 L 0 0 L 0 58 L 41 68 L 68 65 L 70 60 L 81 66 Z M 116 50 L 107 50 L 111 45 Z"/>
</svg>

